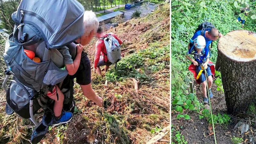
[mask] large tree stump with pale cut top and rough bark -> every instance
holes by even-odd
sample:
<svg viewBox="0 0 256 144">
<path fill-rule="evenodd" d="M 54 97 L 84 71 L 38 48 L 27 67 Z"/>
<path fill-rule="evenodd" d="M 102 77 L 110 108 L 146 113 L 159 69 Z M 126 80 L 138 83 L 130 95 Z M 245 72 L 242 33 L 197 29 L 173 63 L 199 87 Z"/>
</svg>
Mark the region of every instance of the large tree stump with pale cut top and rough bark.
<svg viewBox="0 0 256 144">
<path fill-rule="evenodd" d="M 235 30 L 218 43 L 221 77 L 228 113 L 245 113 L 256 101 L 256 34 Z"/>
</svg>

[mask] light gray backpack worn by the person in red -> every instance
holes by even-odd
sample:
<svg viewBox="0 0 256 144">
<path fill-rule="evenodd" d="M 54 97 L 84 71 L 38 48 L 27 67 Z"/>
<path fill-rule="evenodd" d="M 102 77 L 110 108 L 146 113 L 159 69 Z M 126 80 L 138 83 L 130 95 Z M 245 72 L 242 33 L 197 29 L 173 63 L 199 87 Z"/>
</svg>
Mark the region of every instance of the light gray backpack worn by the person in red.
<svg viewBox="0 0 256 144">
<path fill-rule="evenodd" d="M 114 36 L 111 36 L 111 34 L 108 33 L 108 36 L 104 36 L 104 39 L 101 38 L 100 40 L 104 41 L 104 44 L 107 50 L 107 53 L 104 53 L 104 54 L 107 55 L 108 60 L 112 64 L 121 60 L 120 44 L 118 43 L 118 40 Z"/>
</svg>

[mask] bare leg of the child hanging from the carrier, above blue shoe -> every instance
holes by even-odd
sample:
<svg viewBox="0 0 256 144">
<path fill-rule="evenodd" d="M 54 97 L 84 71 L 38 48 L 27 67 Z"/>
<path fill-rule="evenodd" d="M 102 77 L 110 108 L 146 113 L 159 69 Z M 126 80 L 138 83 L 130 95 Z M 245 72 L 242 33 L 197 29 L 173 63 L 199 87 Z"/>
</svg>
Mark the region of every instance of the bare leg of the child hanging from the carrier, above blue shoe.
<svg viewBox="0 0 256 144">
<path fill-rule="evenodd" d="M 58 97 L 59 97 L 58 100 L 57 100 L 56 92 L 58 93 Z M 59 87 L 55 85 L 52 89 L 52 93 L 48 92 L 47 96 L 55 101 L 53 106 L 53 112 L 54 112 L 54 116 L 59 118 L 61 116 L 61 111 L 62 111 L 63 101 L 64 101 L 63 93 L 60 91 Z"/>
</svg>

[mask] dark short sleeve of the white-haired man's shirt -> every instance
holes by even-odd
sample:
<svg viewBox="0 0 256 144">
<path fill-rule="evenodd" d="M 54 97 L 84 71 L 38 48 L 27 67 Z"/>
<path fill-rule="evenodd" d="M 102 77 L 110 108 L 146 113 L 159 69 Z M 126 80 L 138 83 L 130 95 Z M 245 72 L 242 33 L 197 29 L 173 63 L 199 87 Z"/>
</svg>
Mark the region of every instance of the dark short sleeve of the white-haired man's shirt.
<svg viewBox="0 0 256 144">
<path fill-rule="evenodd" d="M 76 78 L 76 83 L 80 85 L 87 85 L 92 82 L 91 80 L 91 63 L 87 54 L 82 52 L 80 65 L 75 73 L 75 75 L 71 76 L 72 78 Z"/>
</svg>

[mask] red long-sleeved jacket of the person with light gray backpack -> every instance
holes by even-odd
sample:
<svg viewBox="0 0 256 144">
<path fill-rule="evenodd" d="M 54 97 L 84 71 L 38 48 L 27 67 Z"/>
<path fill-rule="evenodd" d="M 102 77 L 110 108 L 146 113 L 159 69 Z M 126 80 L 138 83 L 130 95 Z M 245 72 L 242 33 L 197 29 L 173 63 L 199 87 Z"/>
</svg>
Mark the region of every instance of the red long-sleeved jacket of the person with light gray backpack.
<svg viewBox="0 0 256 144">
<path fill-rule="evenodd" d="M 118 43 L 121 45 L 123 42 L 120 38 L 118 38 L 114 33 L 110 33 L 111 36 L 114 36 L 116 38 L 116 40 L 118 41 Z M 103 40 L 98 40 L 95 44 L 95 48 L 96 48 L 96 51 L 95 51 L 95 56 L 94 56 L 94 68 L 97 67 L 98 65 L 98 62 L 100 60 L 100 54 L 102 56 L 104 56 L 104 62 L 107 62 L 108 61 L 108 57 L 107 55 L 105 55 L 104 53 L 107 54 L 107 50 L 106 50 L 106 46 L 104 44 L 104 41 Z M 103 57 L 102 57 L 102 60 L 103 60 Z"/>
</svg>

